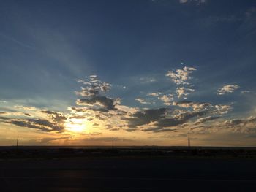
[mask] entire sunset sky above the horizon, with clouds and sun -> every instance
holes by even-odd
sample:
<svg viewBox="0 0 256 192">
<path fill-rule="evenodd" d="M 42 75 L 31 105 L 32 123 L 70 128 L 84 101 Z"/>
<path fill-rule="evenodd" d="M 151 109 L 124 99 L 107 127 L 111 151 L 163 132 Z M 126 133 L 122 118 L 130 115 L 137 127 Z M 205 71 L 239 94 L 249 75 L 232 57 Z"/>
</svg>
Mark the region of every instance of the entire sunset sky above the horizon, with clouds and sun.
<svg viewBox="0 0 256 192">
<path fill-rule="evenodd" d="M 256 146 L 256 1 L 0 4 L 0 145 Z"/>
</svg>

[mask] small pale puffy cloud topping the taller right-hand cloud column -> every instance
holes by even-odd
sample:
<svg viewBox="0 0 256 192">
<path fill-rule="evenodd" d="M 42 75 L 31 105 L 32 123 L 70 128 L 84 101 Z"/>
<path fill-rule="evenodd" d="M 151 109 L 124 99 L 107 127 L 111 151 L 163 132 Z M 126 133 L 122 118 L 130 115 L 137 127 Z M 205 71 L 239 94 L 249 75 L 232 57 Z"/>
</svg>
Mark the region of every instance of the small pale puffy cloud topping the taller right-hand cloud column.
<svg viewBox="0 0 256 192">
<path fill-rule="evenodd" d="M 184 66 L 183 69 L 177 69 L 176 72 L 168 71 L 166 76 L 170 77 L 170 80 L 172 80 L 177 85 L 184 85 L 189 84 L 187 81 L 191 79 L 190 74 L 196 70 L 197 69 L 193 67 Z"/>
</svg>

